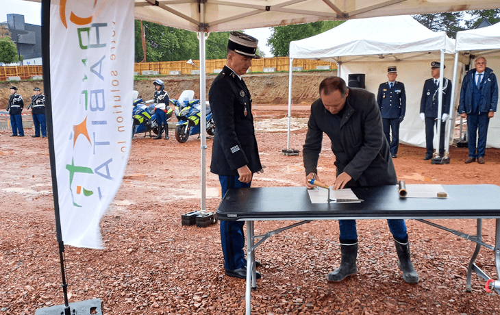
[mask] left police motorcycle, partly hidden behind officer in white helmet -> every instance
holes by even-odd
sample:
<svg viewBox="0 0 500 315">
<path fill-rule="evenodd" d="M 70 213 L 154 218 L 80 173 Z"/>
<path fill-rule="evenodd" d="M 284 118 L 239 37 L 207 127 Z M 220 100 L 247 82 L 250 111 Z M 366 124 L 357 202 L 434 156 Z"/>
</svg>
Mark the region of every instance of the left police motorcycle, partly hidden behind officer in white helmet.
<svg viewBox="0 0 500 315">
<path fill-rule="evenodd" d="M 132 109 L 132 138 L 134 134 L 141 134 L 144 132 L 145 137 L 154 137 L 158 135 L 158 123 L 156 123 L 155 104 L 153 100 L 143 101 L 138 99 L 139 92 L 133 92 L 134 95 L 134 108 Z M 147 105 L 149 104 L 149 105 Z M 167 121 L 172 117 L 173 110 L 168 107 L 166 114 Z M 154 136 L 151 134 L 153 131 Z M 149 133 L 149 134 L 147 134 Z"/>
</svg>

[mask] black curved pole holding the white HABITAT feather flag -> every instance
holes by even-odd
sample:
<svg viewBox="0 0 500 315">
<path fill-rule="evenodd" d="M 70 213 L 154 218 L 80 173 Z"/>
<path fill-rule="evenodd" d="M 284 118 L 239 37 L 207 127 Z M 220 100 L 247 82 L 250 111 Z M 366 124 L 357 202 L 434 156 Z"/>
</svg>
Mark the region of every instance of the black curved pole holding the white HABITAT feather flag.
<svg viewBox="0 0 500 315">
<path fill-rule="evenodd" d="M 59 245 L 59 260 L 61 264 L 62 294 L 64 295 L 64 315 L 71 315 L 68 303 L 68 284 L 66 283 L 66 269 L 64 264 L 64 242 L 62 240 L 61 220 L 59 211 L 58 179 L 55 172 L 55 147 L 52 122 L 51 103 L 51 68 L 50 68 L 50 0 L 42 0 L 42 70 L 43 90 L 45 93 L 45 117 L 47 119 L 47 138 L 49 140 L 49 160 L 51 165 L 52 192 L 55 213 L 55 234 Z"/>
</svg>

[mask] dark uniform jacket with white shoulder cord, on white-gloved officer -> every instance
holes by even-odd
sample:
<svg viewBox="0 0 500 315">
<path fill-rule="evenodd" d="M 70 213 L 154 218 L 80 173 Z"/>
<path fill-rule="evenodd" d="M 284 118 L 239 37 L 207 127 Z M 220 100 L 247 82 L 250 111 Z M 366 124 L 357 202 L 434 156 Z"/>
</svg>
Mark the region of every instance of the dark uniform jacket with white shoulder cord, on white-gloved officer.
<svg viewBox="0 0 500 315">
<path fill-rule="evenodd" d="M 449 114 L 450 103 L 451 81 L 443 77 L 441 115 L 445 113 Z M 434 78 L 425 80 L 422 99 L 420 101 L 420 112 L 424 113 L 425 117 L 438 118 L 438 86 L 434 83 Z"/>
</svg>

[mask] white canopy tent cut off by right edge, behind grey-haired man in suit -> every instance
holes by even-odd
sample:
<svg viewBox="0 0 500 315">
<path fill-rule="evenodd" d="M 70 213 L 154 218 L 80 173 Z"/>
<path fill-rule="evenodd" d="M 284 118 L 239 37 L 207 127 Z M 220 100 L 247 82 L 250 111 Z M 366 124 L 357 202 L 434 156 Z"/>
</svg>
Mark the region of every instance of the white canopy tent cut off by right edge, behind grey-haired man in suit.
<svg viewBox="0 0 500 315">
<path fill-rule="evenodd" d="M 486 66 L 492 68 L 497 75 L 500 75 L 500 23 L 482 27 L 479 29 L 470 29 L 468 31 L 459 31 L 456 39 L 456 50 L 464 51 L 468 55 L 474 55 L 471 58 L 471 69 L 476 58 L 483 56 L 486 58 Z M 463 76 L 462 76 L 463 77 Z M 457 86 L 457 94 L 460 95 L 460 86 Z M 500 148 L 500 115 L 490 119 L 488 126 L 488 138 L 486 147 Z"/>
</svg>

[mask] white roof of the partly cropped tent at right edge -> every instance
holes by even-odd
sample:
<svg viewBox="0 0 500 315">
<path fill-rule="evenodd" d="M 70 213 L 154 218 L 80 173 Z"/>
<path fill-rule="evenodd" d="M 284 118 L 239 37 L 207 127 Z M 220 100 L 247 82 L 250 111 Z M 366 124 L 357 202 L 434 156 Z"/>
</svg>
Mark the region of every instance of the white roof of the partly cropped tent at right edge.
<svg viewBox="0 0 500 315">
<path fill-rule="evenodd" d="M 458 31 L 456 49 L 457 51 L 500 49 L 500 23 L 478 29 Z"/>
</svg>

